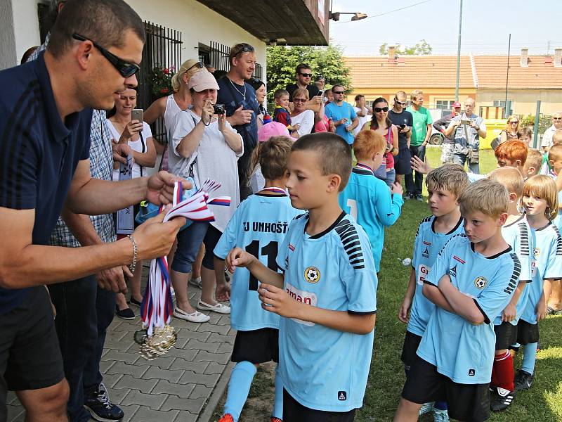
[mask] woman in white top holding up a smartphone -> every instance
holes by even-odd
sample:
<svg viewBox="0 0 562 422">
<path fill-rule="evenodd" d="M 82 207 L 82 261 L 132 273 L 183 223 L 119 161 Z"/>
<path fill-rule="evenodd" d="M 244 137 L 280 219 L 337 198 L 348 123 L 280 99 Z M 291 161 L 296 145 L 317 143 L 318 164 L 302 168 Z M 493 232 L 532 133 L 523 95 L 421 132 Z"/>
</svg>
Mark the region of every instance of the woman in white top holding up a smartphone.
<svg viewBox="0 0 562 422">
<path fill-rule="evenodd" d="M 156 149 L 152 140 L 152 132 L 148 123 L 143 122 L 142 115 L 137 115 L 138 119 L 133 119 L 133 109 L 136 107 L 136 90 L 125 89 L 121 94 L 115 94 L 115 113 L 107 119 L 107 127 L 114 139 L 120 143 L 128 143 L 133 155 L 133 179 L 145 176 L 145 167 L 154 167 L 156 162 Z M 140 110 L 142 111 L 142 110 Z M 113 180 L 119 180 L 119 164 L 114 166 Z M 138 212 L 138 205 L 135 205 L 133 215 Z M 136 264 L 136 271 L 133 278 L 129 279 L 131 284 L 131 302 L 141 306 L 141 276 L 143 262 Z M 122 319 L 133 319 L 134 312 L 127 305 L 125 296 L 122 293 L 116 295 L 117 316 Z"/>
</svg>

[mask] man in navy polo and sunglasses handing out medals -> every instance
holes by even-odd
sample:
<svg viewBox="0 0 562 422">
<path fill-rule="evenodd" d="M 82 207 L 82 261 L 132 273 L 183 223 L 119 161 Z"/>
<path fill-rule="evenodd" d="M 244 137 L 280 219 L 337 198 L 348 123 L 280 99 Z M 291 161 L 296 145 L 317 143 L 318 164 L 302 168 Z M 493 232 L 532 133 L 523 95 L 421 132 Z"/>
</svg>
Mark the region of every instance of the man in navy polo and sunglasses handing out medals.
<svg viewBox="0 0 562 422">
<path fill-rule="evenodd" d="M 89 108 L 111 108 L 114 93 L 136 86 L 144 41 L 142 20 L 124 1 L 70 0 L 46 52 L 0 72 L 0 421 L 7 390 L 17 392 L 27 421 L 67 420 L 68 386 L 42 285 L 165 255 L 185 222 L 155 217 L 122 241 L 47 245 L 63 204 L 99 215 L 143 199 L 170 202 L 176 178 L 165 172 L 118 183 L 90 177 Z"/>
</svg>

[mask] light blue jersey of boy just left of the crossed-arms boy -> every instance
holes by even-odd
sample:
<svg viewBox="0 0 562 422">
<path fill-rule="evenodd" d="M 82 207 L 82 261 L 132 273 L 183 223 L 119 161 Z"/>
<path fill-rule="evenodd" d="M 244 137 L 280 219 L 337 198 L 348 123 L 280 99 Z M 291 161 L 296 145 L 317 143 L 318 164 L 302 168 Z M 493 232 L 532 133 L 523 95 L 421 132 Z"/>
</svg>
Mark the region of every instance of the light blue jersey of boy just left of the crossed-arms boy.
<svg viewBox="0 0 562 422">
<path fill-rule="evenodd" d="M 462 218 L 459 219 L 457 225 L 449 233 L 436 233 L 434 226 L 436 217 L 426 217 L 419 223 L 416 238 L 414 240 L 414 257 L 412 258 L 412 267 L 416 271 L 416 293 L 414 294 L 414 303 L 410 310 L 410 322 L 407 331 L 416 335 L 424 335 L 427 322 L 431 316 L 431 312 L 435 309 L 435 305 L 421 292 L 426 276 L 429 274 L 433 262 L 437 259 L 437 255 L 447 241 L 456 234 L 464 233 L 462 226 Z"/>
</svg>

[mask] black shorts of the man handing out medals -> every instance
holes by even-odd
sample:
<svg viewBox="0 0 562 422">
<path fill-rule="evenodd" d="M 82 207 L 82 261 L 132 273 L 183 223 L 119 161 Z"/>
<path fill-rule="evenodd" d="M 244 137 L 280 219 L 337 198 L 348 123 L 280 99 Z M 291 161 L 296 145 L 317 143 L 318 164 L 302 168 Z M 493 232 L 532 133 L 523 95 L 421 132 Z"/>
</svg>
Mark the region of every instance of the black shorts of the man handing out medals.
<svg viewBox="0 0 562 422">
<path fill-rule="evenodd" d="M 44 286 L 28 289 L 18 307 L 0 315 L 0 333 L 0 373 L 4 374 L 0 408 L 5 408 L 6 390 L 37 390 L 65 378 L 53 309 Z"/>
</svg>

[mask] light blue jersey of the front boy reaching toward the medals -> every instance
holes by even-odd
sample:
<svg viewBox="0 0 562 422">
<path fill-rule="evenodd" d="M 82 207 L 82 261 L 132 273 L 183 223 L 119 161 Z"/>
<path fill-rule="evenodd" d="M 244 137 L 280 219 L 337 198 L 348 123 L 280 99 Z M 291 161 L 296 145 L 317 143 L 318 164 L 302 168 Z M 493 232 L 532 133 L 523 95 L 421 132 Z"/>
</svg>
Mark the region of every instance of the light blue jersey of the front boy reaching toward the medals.
<svg viewBox="0 0 562 422">
<path fill-rule="evenodd" d="M 299 302 L 354 314 L 377 310 L 377 273 L 365 231 L 344 212 L 320 234 L 306 234 L 308 214 L 294 219 L 277 264 L 285 290 Z M 344 333 L 281 318 L 279 368 L 283 387 L 311 409 L 349 411 L 362 406 L 374 331 Z"/>
</svg>

